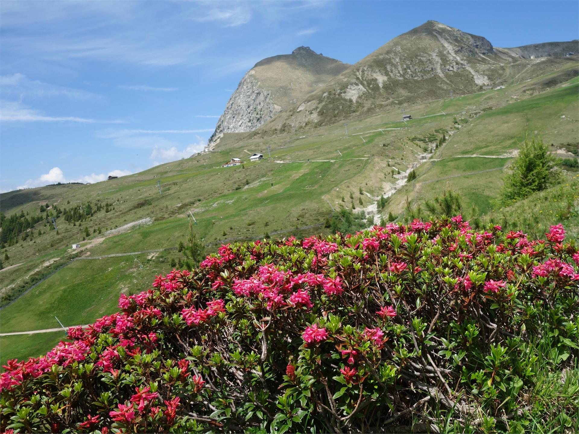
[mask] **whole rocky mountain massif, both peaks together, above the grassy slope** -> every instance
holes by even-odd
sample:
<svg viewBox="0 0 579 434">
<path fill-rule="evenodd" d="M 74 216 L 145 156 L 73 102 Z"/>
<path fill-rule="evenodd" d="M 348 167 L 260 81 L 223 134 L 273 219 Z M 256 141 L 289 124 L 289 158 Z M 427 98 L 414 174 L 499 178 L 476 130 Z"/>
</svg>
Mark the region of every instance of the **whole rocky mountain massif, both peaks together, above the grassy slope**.
<svg viewBox="0 0 579 434">
<path fill-rule="evenodd" d="M 367 116 L 388 106 L 466 95 L 577 62 L 578 41 L 493 47 L 483 36 L 427 21 L 354 65 L 298 47 L 248 71 L 208 142 L 224 133 L 262 137 Z M 573 71 L 571 71 L 573 72 Z M 552 83 L 553 85 L 556 83 Z"/>
</svg>

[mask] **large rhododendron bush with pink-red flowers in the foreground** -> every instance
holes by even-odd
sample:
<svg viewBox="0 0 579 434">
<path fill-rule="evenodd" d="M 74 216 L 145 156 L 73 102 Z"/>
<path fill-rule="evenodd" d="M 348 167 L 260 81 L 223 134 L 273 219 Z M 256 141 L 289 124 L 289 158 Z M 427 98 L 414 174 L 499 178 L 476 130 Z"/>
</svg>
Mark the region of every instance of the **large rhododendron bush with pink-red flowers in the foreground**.
<svg viewBox="0 0 579 434">
<path fill-rule="evenodd" d="M 0 428 L 378 432 L 434 408 L 507 424 L 529 410 L 523 354 L 573 366 L 578 263 L 560 225 L 533 241 L 460 216 L 224 245 L 9 361 Z"/>
</svg>

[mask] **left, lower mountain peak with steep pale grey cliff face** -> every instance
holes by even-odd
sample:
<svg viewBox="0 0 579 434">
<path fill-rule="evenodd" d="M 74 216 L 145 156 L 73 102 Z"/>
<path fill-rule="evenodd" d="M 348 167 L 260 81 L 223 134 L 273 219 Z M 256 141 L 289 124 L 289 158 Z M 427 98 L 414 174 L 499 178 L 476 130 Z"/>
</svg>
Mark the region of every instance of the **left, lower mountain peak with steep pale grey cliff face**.
<svg viewBox="0 0 579 434">
<path fill-rule="evenodd" d="M 303 46 L 259 61 L 229 98 L 206 149 L 213 149 L 224 133 L 255 130 L 348 67 Z"/>
</svg>

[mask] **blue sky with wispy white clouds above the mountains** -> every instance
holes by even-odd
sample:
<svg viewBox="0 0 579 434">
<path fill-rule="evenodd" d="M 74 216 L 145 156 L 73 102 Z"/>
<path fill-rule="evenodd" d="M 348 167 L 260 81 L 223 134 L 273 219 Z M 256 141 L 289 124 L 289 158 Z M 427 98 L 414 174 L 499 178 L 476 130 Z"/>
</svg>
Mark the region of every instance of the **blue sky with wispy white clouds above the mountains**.
<svg viewBox="0 0 579 434">
<path fill-rule="evenodd" d="M 436 20 L 514 47 L 579 38 L 579 2 L 0 2 L 0 190 L 188 157 L 262 58 L 350 64 Z"/>
</svg>

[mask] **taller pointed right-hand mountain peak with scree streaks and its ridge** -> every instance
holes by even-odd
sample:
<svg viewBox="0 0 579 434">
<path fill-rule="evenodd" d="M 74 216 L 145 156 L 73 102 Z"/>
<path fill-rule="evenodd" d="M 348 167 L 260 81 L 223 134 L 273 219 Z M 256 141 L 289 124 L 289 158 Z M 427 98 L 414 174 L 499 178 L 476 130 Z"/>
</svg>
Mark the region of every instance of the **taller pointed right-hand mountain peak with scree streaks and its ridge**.
<svg viewBox="0 0 579 434">
<path fill-rule="evenodd" d="M 427 21 L 277 115 L 263 127 L 267 129 L 263 133 L 331 124 L 386 106 L 448 98 L 451 91 L 458 96 L 516 83 L 547 73 L 555 62 L 576 61 L 566 56 L 577 51 L 576 41 L 501 49 L 483 36 Z"/>
</svg>

